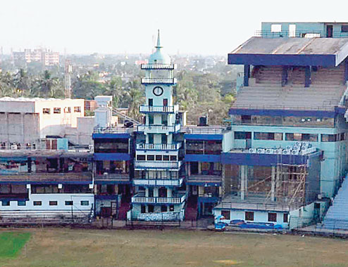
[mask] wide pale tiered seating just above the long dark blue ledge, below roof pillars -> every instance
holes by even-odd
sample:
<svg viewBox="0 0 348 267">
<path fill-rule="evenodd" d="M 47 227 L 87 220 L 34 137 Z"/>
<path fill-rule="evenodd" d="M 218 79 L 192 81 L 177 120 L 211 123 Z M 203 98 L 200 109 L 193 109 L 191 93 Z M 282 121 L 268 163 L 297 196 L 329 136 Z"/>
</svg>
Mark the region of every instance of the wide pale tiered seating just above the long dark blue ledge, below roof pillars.
<svg viewBox="0 0 348 267">
<path fill-rule="evenodd" d="M 232 108 L 330 110 L 340 101 L 344 86 L 246 86 Z"/>
</svg>

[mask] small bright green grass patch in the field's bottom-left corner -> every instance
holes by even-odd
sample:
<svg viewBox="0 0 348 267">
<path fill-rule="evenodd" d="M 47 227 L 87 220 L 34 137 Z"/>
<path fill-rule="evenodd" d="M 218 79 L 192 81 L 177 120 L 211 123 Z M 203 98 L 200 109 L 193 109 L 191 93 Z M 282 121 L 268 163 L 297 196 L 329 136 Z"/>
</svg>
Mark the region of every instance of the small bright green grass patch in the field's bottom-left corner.
<svg viewBox="0 0 348 267">
<path fill-rule="evenodd" d="M 15 258 L 30 239 L 31 233 L 0 233 L 0 259 Z"/>
</svg>

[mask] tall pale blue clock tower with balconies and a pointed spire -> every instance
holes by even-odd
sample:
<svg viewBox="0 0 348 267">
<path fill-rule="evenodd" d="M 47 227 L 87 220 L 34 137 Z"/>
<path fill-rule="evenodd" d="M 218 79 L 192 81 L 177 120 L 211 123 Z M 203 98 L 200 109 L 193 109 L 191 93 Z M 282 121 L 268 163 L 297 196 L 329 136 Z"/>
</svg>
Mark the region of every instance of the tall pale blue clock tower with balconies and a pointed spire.
<svg viewBox="0 0 348 267">
<path fill-rule="evenodd" d="M 142 64 L 146 103 L 139 111 L 145 120 L 137 126 L 132 219 L 178 221 L 183 219 L 186 194 L 178 191 L 185 168 L 179 138 L 179 107 L 173 103 L 176 65 L 163 53 L 159 34 L 155 48 L 149 63 Z"/>
</svg>

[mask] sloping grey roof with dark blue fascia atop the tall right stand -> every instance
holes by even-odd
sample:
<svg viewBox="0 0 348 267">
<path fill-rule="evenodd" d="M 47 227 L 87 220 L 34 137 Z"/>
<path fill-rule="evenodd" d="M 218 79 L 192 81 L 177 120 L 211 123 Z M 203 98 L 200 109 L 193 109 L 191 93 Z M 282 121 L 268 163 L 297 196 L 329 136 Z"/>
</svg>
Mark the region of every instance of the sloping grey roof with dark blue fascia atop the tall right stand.
<svg viewBox="0 0 348 267">
<path fill-rule="evenodd" d="M 335 67 L 348 56 L 348 38 L 251 37 L 228 54 L 228 64 Z"/>
</svg>

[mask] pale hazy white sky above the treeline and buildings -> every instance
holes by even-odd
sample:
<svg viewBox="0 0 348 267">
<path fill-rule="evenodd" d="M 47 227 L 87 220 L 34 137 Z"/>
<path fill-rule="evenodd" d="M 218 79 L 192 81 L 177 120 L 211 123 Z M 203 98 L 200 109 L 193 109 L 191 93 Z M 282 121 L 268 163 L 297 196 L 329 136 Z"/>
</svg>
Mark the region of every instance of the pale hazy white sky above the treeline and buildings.
<svg viewBox="0 0 348 267">
<path fill-rule="evenodd" d="M 344 0 L 0 0 L 0 46 L 150 53 L 159 28 L 168 53 L 225 55 L 261 21 L 342 22 L 347 11 Z"/>
</svg>

